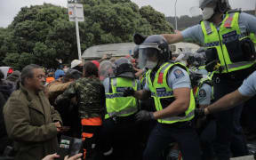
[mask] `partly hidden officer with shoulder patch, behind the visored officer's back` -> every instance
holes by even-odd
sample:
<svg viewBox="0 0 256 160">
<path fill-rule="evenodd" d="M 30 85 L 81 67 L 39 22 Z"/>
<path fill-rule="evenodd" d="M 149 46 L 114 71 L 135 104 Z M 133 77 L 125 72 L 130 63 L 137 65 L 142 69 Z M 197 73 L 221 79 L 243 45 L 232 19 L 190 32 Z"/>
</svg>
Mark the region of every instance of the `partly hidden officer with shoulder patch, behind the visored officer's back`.
<svg viewBox="0 0 256 160">
<path fill-rule="evenodd" d="M 205 76 L 200 74 L 200 72 L 190 72 L 190 77 L 192 75 L 197 76 L 198 79 L 196 83 L 192 83 L 196 85 L 194 89 L 194 95 L 196 99 L 197 108 L 206 108 L 209 106 L 214 99 L 213 97 L 213 85 L 212 80 L 209 76 Z M 213 116 L 207 116 L 204 119 L 198 118 L 196 121 L 196 129 L 200 136 L 200 144 L 202 148 L 202 159 L 211 160 L 214 158 L 213 153 L 213 140 L 216 137 L 216 122 Z"/>
</svg>

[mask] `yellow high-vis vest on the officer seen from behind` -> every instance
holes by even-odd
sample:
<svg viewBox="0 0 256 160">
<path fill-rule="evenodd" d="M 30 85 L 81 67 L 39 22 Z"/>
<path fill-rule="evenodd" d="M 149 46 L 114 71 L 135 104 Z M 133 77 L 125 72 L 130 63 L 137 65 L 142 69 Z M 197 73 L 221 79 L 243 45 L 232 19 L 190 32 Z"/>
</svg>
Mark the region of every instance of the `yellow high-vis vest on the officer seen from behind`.
<svg viewBox="0 0 256 160">
<path fill-rule="evenodd" d="M 138 111 L 137 100 L 132 97 L 124 97 L 123 92 L 125 88 L 132 87 L 134 91 L 138 90 L 136 80 L 115 77 L 110 79 L 109 87 L 112 92 L 106 92 L 106 107 L 109 116 L 130 116 Z"/>
</svg>

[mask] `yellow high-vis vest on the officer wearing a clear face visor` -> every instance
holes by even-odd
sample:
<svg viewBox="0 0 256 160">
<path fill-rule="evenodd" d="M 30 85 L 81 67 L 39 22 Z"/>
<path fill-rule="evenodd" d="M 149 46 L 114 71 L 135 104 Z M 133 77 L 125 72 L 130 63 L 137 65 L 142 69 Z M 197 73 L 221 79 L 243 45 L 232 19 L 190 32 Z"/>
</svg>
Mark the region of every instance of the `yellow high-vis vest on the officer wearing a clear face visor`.
<svg viewBox="0 0 256 160">
<path fill-rule="evenodd" d="M 188 71 L 188 68 L 184 67 L 180 63 L 166 62 L 157 70 L 154 80 L 151 80 L 150 78 L 151 70 L 149 70 L 149 73 L 147 75 L 148 87 L 152 97 L 154 98 L 157 111 L 168 107 L 168 106 L 162 106 L 163 104 L 161 103 L 161 100 L 171 100 L 171 101 L 175 100 L 173 95 L 173 90 L 168 86 L 168 83 L 167 83 L 168 71 L 172 69 L 174 66 L 180 66 L 180 67 L 182 66 L 182 68 L 185 68 Z M 170 104 L 171 103 L 172 102 L 170 102 Z M 162 123 L 162 124 L 173 124 L 177 122 L 189 121 L 194 117 L 195 106 L 196 104 L 195 104 L 193 92 L 192 90 L 190 90 L 190 104 L 184 116 L 172 116 L 168 118 L 158 119 L 157 121 L 158 123 Z"/>
</svg>

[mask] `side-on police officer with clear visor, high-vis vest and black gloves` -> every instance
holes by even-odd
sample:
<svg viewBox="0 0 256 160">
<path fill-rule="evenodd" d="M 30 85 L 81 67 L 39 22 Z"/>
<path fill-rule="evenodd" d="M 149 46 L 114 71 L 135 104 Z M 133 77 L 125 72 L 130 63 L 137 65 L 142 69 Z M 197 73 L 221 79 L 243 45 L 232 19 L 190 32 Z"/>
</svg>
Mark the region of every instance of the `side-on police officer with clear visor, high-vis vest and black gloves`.
<svg viewBox="0 0 256 160">
<path fill-rule="evenodd" d="M 136 36 L 136 35 L 135 35 Z M 150 133 L 143 159 L 161 160 L 164 148 L 171 142 L 178 142 L 184 160 L 199 160 L 199 140 L 192 120 L 194 118 L 195 99 L 190 86 L 187 68 L 180 63 L 169 62 L 171 52 L 164 36 L 148 36 L 136 41 L 140 44 L 140 68 L 146 67 L 149 73 L 143 90 L 128 88 L 124 95 L 132 95 L 139 100 L 154 98 L 156 111 L 140 110 L 137 120 L 156 120 L 156 126 Z"/>
</svg>

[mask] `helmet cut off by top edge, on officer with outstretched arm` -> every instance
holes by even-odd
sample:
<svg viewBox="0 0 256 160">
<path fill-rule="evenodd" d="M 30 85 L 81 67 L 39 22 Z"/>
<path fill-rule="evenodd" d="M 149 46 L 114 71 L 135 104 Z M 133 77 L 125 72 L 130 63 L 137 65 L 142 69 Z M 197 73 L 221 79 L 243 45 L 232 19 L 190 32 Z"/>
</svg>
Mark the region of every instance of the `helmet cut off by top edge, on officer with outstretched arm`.
<svg viewBox="0 0 256 160">
<path fill-rule="evenodd" d="M 209 4 L 216 4 L 215 12 L 227 12 L 231 7 L 228 0 L 199 0 L 199 7 L 204 9 Z"/>
</svg>

